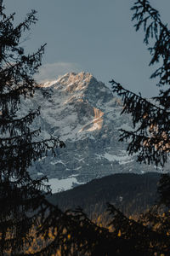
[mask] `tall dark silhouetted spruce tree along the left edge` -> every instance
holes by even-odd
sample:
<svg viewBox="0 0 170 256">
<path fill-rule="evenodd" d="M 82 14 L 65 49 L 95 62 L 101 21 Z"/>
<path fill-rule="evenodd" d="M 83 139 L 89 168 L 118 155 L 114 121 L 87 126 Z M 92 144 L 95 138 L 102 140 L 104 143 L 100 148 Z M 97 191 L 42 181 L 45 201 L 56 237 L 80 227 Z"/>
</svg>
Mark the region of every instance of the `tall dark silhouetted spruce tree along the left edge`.
<svg viewBox="0 0 170 256">
<path fill-rule="evenodd" d="M 0 2 L 0 253 L 19 255 L 31 243 L 32 226 L 47 215 L 44 178 L 32 180 L 28 167 L 48 150 L 65 146 L 59 138 L 39 141 L 40 129 L 30 128 L 40 108 L 25 116 L 19 114 L 21 98 L 33 96 L 38 86 L 33 79 L 41 65 L 44 46 L 26 55 L 20 45 L 22 33 L 37 21 L 36 11 L 26 15 L 18 26 L 14 14 L 6 16 Z M 48 209 L 49 211 L 49 209 Z M 43 218 L 44 219 L 44 218 Z"/>
</svg>

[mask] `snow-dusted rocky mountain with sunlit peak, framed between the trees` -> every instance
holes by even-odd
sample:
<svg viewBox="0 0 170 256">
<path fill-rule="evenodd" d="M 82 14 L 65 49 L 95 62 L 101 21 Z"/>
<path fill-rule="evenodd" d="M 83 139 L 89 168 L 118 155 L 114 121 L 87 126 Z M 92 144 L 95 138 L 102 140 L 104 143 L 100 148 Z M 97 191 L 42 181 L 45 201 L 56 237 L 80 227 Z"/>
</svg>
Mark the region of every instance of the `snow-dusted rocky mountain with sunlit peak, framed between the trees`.
<svg viewBox="0 0 170 256">
<path fill-rule="evenodd" d="M 34 122 L 40 126 L 42 138 L 58 137 L 66 148 L 57 148 L 37 161 L 31 173 L 49 178 L 76 175 L 79 183 L 115 172 L 156 171 L 154 166 L 139 165 L 128 156 L 127 145 L 118 142 L 118 129 L 131 130 L 130 116 L 120 115 L 122 103 L 111 90 L 90 73 L 67 73 L 41 84 L 41 90 L 24 102 L 24 108 L 41 106 L 41 116 Z M 40 175 L 40 174 L 39 174 Z"/>
</svg>

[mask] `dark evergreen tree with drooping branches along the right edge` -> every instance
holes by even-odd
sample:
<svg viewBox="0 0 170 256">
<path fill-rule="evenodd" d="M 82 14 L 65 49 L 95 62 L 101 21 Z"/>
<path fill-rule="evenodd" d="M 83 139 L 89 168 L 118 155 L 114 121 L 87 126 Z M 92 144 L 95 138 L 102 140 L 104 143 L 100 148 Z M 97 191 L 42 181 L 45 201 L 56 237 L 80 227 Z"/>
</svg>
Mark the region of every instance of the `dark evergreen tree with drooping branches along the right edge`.
<svg viewBox="0 0 170 256">
<path fill-rule="evenodd" d="M 155 42 L 150 51 L 150 66 L 159 63 L 160 67 L 150 76 L 159 79 L 159 96 L 146 99 L 141 94 L 133 93 L 111 80 L 113 92 L 122 97 L 122 113 L 130 113 L 133 130 L 121 130 L 120 141 L 127 140 L 129 154 L 138 154 L 138 161 L 156 166 L 164 166 L 169 154 L 170 139 L 170 89 L 163 89 L 170 84 L 170 31 L 161 22 L 158 11 L 150 6 L 148 0 L 138 0 L 133 5 L 133 19 L 136 31 L 144 28 L 144 44 Z"/>
</svg>

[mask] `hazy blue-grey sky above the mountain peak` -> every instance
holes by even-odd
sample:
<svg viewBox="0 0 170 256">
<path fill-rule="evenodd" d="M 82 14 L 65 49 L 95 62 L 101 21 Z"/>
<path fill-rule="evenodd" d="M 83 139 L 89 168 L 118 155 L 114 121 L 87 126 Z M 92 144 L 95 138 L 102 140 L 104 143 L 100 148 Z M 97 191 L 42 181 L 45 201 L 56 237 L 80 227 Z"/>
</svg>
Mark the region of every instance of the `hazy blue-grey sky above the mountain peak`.
<svg viewBox="0 0 170 256">
<path fill-rule="evenodd" d="M 156 80 L 148 67 L 150 54 L 144 33 L 135 32 L 131 21 L 135 0 L 3 0 L 16 21 L 37 10 L 37 25 L 23 44 L 29 51 L 47 43 L 41 79 L 56 79 L 67 72 L 93 73 L 105 84 L 114 78 L 126 88 L 156 95 Z M 162 20 L 170 24 L 170 1 L 150 0 Z"/>
</svg>

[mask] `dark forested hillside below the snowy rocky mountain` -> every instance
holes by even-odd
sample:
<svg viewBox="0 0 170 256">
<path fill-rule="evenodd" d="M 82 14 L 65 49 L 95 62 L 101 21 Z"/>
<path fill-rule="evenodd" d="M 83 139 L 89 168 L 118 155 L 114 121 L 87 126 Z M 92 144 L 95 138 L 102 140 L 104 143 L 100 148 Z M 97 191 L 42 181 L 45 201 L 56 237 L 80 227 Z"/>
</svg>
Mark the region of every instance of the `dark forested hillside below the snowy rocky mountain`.
<svg viewBox="0 0 170 256">
<path fill-rule="evenodd" d="M 52 195 L 49 201 L 61 209 L 82 207 L 93 217 L 94 213 L 105 212 L 106 203 L 119 207 L 127 216 L 144 212 L 156 201 L 156 183 L 159 173 L 143 175 L 117 173 Z"/>
</svg>

